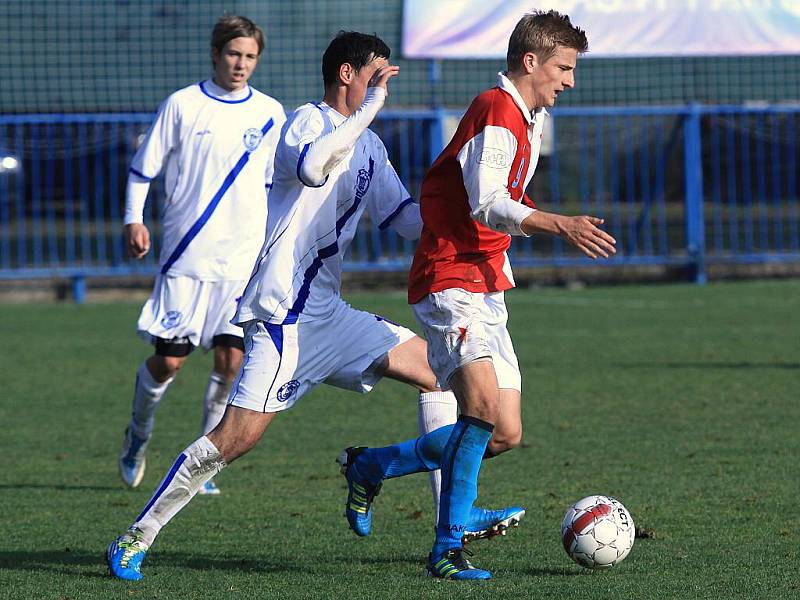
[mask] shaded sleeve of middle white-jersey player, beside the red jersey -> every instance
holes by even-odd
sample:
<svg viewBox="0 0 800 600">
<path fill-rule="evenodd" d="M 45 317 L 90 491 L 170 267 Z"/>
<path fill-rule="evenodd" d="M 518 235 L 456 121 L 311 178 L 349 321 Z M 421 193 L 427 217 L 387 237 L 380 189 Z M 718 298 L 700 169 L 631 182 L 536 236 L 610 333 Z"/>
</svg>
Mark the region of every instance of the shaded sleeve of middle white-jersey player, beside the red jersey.
<svg viewBox="0 0 800 600">
<path fill-rule="evenodd" d="M 385 230 L 391 227 L 398 234 L 408 240 L 416 240 L 422 233 L 422 217 L 419 213 L 419 204 L 414 202 L 408 193 L 400 176 L 394 170 L 392 163 L 386 155 L 383 143 L 380 144 L 381 167 L 377 169 L 371 189 L 367 197 L 367 210 L 378 229 Z"/>
</svg>

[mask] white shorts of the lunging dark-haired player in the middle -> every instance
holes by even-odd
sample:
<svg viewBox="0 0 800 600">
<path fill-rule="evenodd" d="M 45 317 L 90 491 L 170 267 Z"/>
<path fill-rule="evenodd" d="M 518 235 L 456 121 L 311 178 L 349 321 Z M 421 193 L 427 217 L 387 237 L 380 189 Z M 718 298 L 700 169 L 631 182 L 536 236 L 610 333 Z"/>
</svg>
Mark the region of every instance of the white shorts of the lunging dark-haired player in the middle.
<svg viewBox="0 0 800 600">
<path fill-rule="evenodd" d="M 228 404 L 258 412 L 286 410 L 320 383 L 366 394 L 376 368 L 414 332 L 339 301 L 326 318 L 290 325 L 248 321 L 245 356 Z"/>
</svg>

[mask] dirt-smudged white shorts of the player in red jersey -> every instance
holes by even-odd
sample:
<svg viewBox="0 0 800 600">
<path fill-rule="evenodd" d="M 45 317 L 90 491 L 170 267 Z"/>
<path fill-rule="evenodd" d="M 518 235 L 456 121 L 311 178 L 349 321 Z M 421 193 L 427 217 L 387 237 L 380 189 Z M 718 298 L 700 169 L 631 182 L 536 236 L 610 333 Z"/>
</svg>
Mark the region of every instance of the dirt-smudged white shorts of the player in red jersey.
<svg viewBox="0 0 800 600">
<path fill-rule="evenodd" d="M 503 292 L 452 288 L 428 294 L 411 308 L 428 340 L 428 362 L 441 383 L 464 365 L 490 359 L 500 388 L 522 390 L 517 355 L 506 328 Z"/>
</svg>

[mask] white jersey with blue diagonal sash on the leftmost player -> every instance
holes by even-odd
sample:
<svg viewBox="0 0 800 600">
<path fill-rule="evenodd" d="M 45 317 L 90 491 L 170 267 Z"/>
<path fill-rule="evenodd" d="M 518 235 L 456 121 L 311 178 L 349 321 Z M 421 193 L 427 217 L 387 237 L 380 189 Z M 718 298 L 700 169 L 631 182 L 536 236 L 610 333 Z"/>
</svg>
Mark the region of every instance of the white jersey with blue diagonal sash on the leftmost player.
<svg viewBox="0 0 800 600">
<path fill-rule="evenodd" d="M 159 107 L 131 163 L 153 179 L 165 168 L 161 273 L 246 280 L 264 242 L 267 191 L 281 104 L 247 86 L 226 92 L 207 80 Z"/>
</svg>

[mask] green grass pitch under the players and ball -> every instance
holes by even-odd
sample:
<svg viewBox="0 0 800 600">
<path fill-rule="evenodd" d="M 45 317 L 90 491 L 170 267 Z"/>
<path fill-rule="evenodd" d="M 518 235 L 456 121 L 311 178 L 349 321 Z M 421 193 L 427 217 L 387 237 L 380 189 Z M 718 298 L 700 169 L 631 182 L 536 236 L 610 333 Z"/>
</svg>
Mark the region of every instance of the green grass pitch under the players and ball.
<svg viewBox="0 0 800 600">
<path fill-rule="evenodd" d="M 353 295 L 411 324 L 401 294 Z M 477 542 L 495 579 L 423 577 L 427 476 L 393 480 L 372 537 L 342 517 L 334 458 L 416 432 L 416 395 L 321 387 L 166 527 L 138 584 L 110 579 L 106 545 L 198 435 L 210 356 L 159 409 L 148 471 L 123 489 L 116 455 L 138 304 L 0 306 L 0 598 L 800 597 L 800 281 L 509 293 L 523 371 L 522 447 L 485 463 L 479 503 L 520 503 L 522 526 Z M 612 495 L 639 528 L 630 556 L 587 571 L 561 548 L 567 506 Z"/>
</svg>

